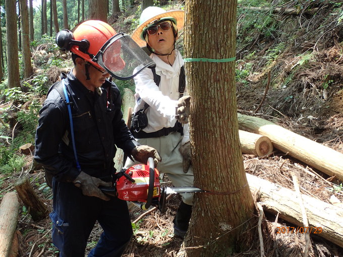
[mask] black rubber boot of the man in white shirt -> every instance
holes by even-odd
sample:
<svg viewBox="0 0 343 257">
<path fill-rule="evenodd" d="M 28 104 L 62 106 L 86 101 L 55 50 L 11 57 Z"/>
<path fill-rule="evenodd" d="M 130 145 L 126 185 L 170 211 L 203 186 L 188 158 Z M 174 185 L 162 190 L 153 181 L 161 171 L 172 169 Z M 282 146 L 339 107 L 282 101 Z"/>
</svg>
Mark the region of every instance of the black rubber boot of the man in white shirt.
<svg viewBox="0 0 343 257">
<path fill-rule="evenodd" d="M 182 239 L 185 238 L 189 221 L 192 215 L 192 206 L 181 202 L 178 212 L 174 218 L 174 235 Z"/>
</svg>

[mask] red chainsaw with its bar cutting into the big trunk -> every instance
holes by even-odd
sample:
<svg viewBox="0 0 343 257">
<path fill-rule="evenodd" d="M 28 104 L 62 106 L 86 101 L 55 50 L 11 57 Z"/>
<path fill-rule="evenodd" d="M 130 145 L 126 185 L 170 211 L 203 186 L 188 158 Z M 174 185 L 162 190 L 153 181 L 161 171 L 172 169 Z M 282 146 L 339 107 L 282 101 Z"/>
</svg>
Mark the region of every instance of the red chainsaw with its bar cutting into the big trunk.
<svg viewBox="0 0 343 257">
<path fill-rule="evenodd" d="M 164 213 L 166 194 L 203 191 L 193 186 L 161 188 L 159 172 L 154 166 L 153 158 L 148 159 L 147 165 L 133 165 L 129 169 L 122 169 L 116 173 L 116 176 L 115 186 L 100 187 L 101 191 L 121 200 L 132 202 L 142 210 L 155 206 L 161 213 Z"/>
</svg>

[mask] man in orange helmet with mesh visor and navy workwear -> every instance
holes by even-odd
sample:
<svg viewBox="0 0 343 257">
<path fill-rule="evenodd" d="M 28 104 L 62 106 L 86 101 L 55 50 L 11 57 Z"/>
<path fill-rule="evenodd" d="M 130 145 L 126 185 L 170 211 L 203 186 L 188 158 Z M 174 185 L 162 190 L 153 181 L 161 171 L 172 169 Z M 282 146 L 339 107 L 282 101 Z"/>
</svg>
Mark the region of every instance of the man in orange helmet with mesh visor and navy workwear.
<svg viewBox="0 0 343 257">
<path fill-rule="evenodd" d="M 34 155 L 53 177 L 52 242 L 60 256 L 84 257 L 98 221 L 103 233 L 88 256 L 121 256 L 132 236 L 128 207 L 98 186 L 112 185 L 115 146 L 142 163 L 153 157 L 157 164 L 160 157 L 131 135 L 120 92 L 108 78 L 130 79 L 153 62 L 128 35 L 101 21 L 86 21 L 74 33 L 63 30 L 56 43 L 72 52 L 74 68 L 48 92 Z"/>
</svg>

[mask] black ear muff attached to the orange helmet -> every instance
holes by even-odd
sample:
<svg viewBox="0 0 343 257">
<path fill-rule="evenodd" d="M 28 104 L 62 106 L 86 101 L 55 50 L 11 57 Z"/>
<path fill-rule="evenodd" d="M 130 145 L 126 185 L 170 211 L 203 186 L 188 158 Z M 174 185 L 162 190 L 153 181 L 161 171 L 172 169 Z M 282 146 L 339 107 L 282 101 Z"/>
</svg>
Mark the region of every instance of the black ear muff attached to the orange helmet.
<svg viewBox="0 0 343 257">
<path fill-rule="evenodd" d="M 89 48 L 89 41 L 87 39 L 75 40 L 73 32 L 68 29 L 63 29 L 57 33 L 56 44 L 64 51 L 69 51 L 73 45 L 79 46 L 79 50 L 84 53 L 87 53 Z"/>
</svg>

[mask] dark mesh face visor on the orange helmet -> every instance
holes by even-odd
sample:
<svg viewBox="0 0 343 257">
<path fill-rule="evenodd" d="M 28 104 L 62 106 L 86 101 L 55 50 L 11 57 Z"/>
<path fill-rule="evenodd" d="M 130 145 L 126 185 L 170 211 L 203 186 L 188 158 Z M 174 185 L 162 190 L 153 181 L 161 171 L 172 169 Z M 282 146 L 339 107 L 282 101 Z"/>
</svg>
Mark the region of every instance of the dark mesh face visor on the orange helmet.
<svg viewBox="0 0 343 257">
<path fill-rule="evenodd" d="M 101 67 L 119 80 L 132 79 L 145 68 L 156 66 L 138 44 L 124 33 L 110 38 L 95 58 Z"/>
</svg>

